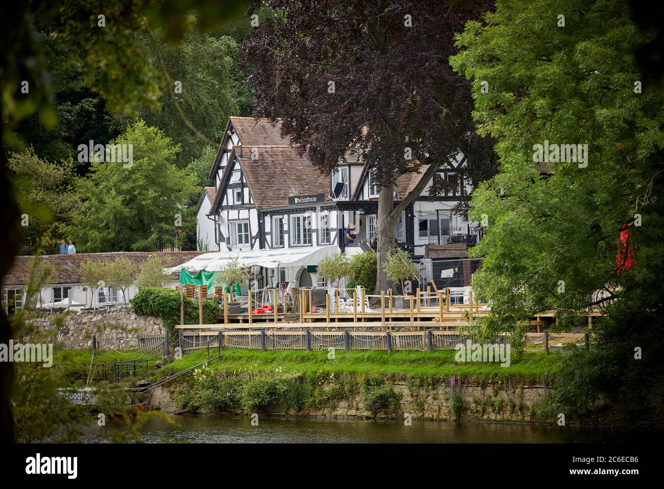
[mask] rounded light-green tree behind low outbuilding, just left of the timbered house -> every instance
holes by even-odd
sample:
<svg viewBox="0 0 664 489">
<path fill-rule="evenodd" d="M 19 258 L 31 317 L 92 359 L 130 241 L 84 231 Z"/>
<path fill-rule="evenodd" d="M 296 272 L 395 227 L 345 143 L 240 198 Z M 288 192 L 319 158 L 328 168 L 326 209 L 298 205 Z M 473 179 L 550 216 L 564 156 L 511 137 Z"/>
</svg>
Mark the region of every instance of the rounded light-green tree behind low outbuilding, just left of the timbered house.
<svg viewBox="0 0 664 489">
<path fill-rule="evenodd" d="M 133 147 L 133 163 L 93 162 L 78 181 L 83 204 L 70 234 L 86 251 L 152 251 L 173 242 L 178 228 L 195 219 L 186 206 L 193 176 L 175 166 L 179 146 L 139 121 L 113 144 Z"/>
</svg>

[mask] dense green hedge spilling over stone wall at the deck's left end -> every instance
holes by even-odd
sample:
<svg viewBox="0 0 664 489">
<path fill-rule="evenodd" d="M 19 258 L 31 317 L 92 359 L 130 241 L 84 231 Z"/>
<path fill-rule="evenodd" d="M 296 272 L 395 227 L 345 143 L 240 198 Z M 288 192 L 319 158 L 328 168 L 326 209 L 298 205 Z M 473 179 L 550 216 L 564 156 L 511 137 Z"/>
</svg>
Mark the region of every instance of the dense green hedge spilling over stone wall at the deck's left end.
<svg viewBox="0 0 664 489">
<path fill-rule="evenodd" d="M 199 303 L 184 298 L 185 324 L 199 323 Z M 180 323 L 180 293 L 175 289 L 161 287 L 141 287 L 131 299 L 131 310 L 135 314 L 161 317 L 164 327 L 175 337 L 175 325 Z M 212 324 L 214 316 L 223 313 L 216 301 L 203 301 L 203 323 Z"/>
</svg>

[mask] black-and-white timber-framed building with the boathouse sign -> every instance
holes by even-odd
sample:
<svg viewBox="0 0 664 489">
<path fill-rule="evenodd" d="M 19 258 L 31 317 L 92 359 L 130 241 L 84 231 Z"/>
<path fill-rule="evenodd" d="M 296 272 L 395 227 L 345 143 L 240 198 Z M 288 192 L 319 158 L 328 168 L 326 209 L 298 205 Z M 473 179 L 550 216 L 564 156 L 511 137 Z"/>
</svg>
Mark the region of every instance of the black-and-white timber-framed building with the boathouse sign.
<svg viewBox="0 0 664 489">
<path fill-rule="evenodd" d="M 459 156 L 438 174 L 451 181 L 465 162 Z M 395 206 L 425 171 L 426 167 L 396 179 Z M 375 235 L 378 188 L 372 178 L 369 165 L 351 152 L 333 174 L 323 175 L 306 154 L 300 156 L 282 138 L 279 120 L 272 124 L 267 119 L 230 117 L 210 168 L 214 187 L 205 188 L 197 207 L 199 249 L 276 251 L 337 245 L 346 253 L 360 251 L 357 245 L 343 244 L 343 230 L 353 222 L 357 240 L 370 241 Z M 451 212 L 469 196 L 471 186 L 462 182 L 430 200 L 432 180 L 397 223 L 396 242 L 414 258 L 425 255 L 426 245 L 473 244 L 479 239 L 479 228 Z M 314 273 L 286 273 L 259 277 L 264 282 L 258 285 L 287 280 L 308 285 L 316 280 Z"/>
</svg>

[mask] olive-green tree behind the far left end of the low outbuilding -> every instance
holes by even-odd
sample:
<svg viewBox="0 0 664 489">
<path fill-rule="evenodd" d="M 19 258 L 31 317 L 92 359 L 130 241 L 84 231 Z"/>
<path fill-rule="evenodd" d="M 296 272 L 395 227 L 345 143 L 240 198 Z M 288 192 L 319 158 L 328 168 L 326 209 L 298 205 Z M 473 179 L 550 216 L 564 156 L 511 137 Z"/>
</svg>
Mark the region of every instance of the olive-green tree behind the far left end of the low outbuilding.
<svg viewBox="0 0 664 489">
<path fill-rule="evenodd" d="M 59 242 L 57 238 L 65 237 L 64 227 L 80 204 L 70 186 L 71 160 L 48 162 L 28 148 L 10 156 L 9 170 L 25 222 L 22 254 Z"/>
</svg>

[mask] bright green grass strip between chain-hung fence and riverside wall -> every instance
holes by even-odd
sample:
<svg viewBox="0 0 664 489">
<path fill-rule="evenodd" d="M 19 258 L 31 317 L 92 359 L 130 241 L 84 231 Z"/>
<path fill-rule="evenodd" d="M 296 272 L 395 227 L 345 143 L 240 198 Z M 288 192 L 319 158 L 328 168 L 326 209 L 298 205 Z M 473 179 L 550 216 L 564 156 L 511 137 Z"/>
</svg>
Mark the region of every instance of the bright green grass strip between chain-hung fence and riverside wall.
<svg viewBox="0 0 664 489">
<path fill-rule="evenodd" d="M 335 351 L 329 359 L 325 351 L 257 351 L 222 349 L 221 358 L 210 362 L 212 371 L 258 371 L 294 373 L 373 373 L 379 375 L 426 375 L 462 377 L 509 377 L 524 381 L 537 381 L 550 373 L 564 360 L 564 355 L 525 352 L 520 357 L 513 355 L 509 367 L 499 363 L 456 363 L 456 351 Z M 216 350 L 210 351 L 216 355 Z M 207 351 L 201 350 L 185 355 L 162 369 L 161 373 L 174 373 L 193 367 L 207 360 Z"/>
</svg>

